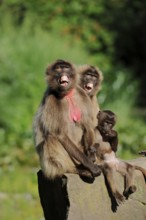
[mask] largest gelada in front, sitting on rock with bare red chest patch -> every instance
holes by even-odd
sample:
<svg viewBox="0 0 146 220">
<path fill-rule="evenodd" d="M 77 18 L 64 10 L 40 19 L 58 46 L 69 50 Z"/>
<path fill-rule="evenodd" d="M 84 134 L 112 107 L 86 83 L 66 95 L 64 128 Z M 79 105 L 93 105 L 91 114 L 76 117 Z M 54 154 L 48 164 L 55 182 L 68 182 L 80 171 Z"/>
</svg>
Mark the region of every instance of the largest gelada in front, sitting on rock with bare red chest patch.
<svg viewBox="0 0 146 220">
<path fill-rule="evenodd" d="M 48 88 L 33 128 L 41 168 L 49 179 L 64 173 L 91 177 L 101 173 L 81 151 L 81 139 L 88 147 L 95 142 L 90 99 L 76 85 L 76 78 L 75 67 L 64 60 L 57 60 L 46 70 Z M 79 168 L 80 164 L 86 169 Z"/>
</svg>

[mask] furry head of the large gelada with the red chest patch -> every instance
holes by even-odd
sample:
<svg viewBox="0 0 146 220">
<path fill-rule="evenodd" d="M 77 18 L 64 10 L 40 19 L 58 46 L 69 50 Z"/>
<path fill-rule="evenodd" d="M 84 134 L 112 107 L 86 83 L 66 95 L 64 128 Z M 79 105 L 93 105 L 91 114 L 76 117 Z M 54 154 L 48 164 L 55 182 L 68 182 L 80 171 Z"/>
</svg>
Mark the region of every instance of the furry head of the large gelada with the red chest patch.
<svg viewBox="0 0 146 220">
<path fill-rule="evenodd" d="M 57 60 L 46 71 L 47 82 L 52 90 L 63 92 L 71 90 L 76 83 L 76 72 L 69 62 Z"/>
</svg>

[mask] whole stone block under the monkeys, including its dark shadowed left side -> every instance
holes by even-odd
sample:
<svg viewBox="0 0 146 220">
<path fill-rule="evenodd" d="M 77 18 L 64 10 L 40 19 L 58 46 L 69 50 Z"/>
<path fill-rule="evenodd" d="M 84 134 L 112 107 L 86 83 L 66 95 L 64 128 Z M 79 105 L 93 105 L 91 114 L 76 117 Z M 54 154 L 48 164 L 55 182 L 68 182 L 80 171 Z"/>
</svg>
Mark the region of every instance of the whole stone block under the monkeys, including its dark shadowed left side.
<svg viewBox="0 0 146 220">
<path fill-rule="evenodd" d="M 146 158 L 128 161 L 146 169 Z M 115 178 L 121 193 L 124 180 Z M 137 191 L 119 206 L 110 197 L 104 176 L 89 184 L 77 175 L 68 174 L 54 181 L 38 172 L 38 190 L 45 220 L 146 220 L 146 182 L 140 171 L 135 171 Z"/>
</svg>

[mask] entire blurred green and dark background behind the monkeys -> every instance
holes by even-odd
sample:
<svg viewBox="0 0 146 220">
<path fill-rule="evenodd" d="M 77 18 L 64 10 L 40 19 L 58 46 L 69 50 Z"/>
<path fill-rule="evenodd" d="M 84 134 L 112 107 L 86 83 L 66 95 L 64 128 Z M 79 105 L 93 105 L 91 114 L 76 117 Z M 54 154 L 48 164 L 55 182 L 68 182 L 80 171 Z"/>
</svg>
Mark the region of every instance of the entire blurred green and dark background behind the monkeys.
<svg viewBox="0 0 146 220">
<path fill-rule="evenodd" d="M 45 68 L 98 66 L 101 109 L 117 114 L 118 156 L 146 149 L 146 1 L 0 0 L 0 219 L 41 220 L 32 120 Z"/>
</svg>

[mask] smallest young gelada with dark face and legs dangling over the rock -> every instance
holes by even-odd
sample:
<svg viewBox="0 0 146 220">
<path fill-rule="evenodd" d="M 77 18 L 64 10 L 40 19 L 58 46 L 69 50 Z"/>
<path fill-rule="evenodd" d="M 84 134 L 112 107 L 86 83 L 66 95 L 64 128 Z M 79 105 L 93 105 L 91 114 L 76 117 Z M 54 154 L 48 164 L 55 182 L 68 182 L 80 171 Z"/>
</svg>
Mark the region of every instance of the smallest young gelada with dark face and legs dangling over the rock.
<svg viewBox="0 0 146 220">
<path fill-rule="evenodd" d="M 117 204 L 120 204 L 125 200 L 124 196 L 128 198 L 131 193 L 136 191 L 136 186 L 133 184 L 134 171 L 140 170 L 146 181 L 146 170 L 142 167 L 131 165 L 116 158 L 114 151 L 117 149 L 118 141 L 116 132 L 113 130 L 113 126 L 116 123 L 115 114 L 109 110 L 100 111 L 97 115 L 97 118 L 97 132 L 99 132 L 101 135 L 101 139 L 99 140 L 99 134 L 97 134 L 98 144 L 95 144 L 97 149 L 97 162 L 101 164 L 101 169 Z M 124 196 L 117 189 L 114 178 L 116 172 L 125 177 L 125 189 L 123 192 Z"/>
</svg>

